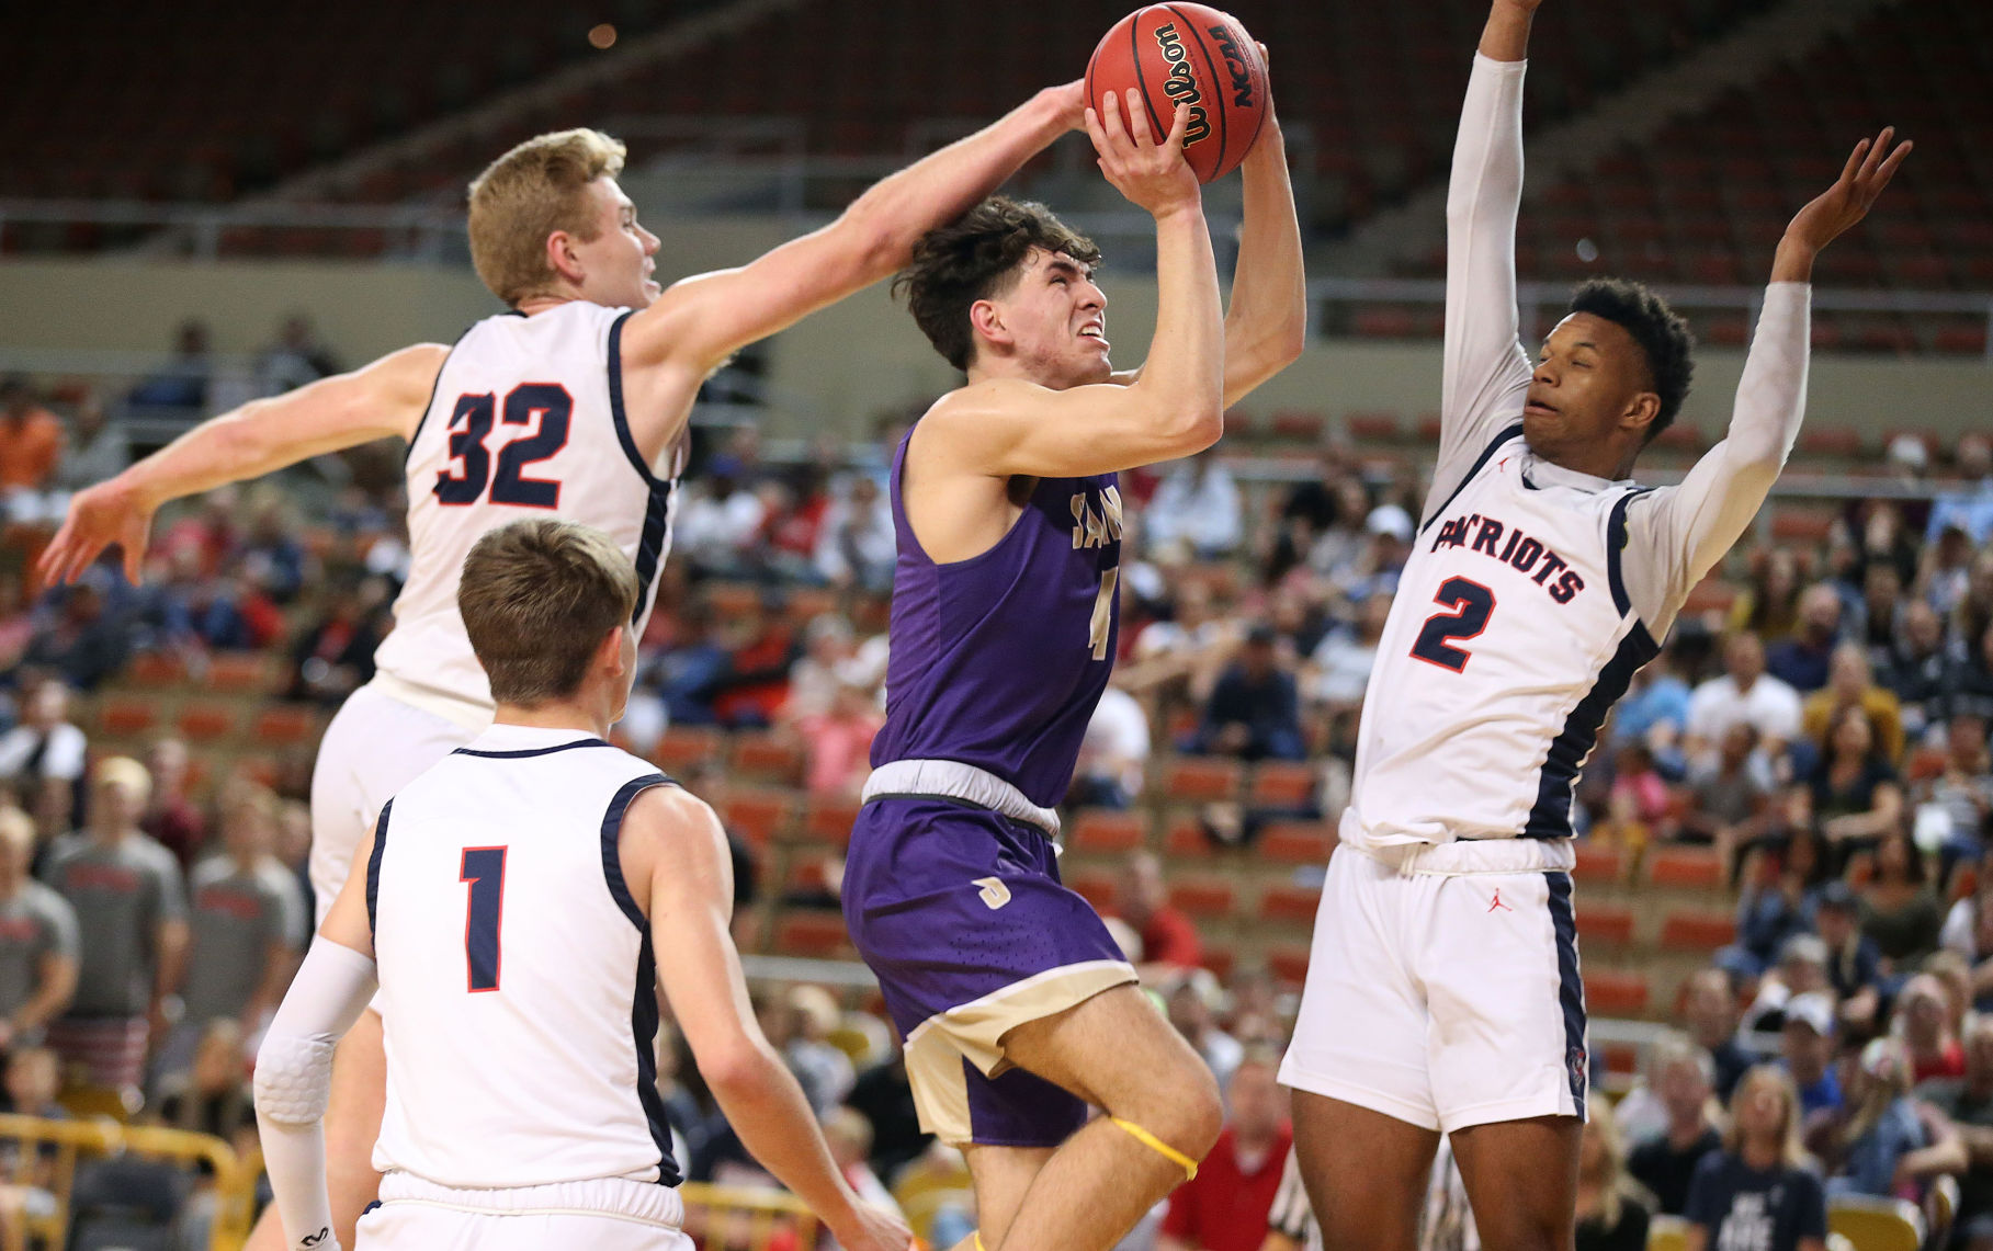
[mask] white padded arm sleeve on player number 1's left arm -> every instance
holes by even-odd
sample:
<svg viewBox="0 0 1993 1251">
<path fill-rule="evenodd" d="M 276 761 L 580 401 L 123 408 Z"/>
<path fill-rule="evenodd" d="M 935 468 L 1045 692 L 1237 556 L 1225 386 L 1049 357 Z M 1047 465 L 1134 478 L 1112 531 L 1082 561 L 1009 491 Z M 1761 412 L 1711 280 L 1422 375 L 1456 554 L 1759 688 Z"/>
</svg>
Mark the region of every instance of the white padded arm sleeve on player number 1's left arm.
<svg viewBox="0 0 1993 1251">
<path fill-rule="evenodd" d="M 325 1189 L 325 1100 L 333 1048 L 379 982 L 375 962 L 331 938 L 313 938 L 255 1058 L 255 1120 L 285 1247 L 337 1249 Z"/>
</svg>

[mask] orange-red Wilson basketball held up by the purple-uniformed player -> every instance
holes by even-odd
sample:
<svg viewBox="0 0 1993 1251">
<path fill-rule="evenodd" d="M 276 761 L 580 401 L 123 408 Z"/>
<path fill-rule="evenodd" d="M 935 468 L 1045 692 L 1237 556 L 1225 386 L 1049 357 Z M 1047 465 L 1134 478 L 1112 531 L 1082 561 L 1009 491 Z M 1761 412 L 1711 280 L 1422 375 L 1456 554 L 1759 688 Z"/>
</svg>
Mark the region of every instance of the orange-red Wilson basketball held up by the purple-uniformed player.
<svg viewBox="0 0 1993 1251">
<path fill-rule="evenodd" d="M 1208 4 L 1148 4 L 1114 24 L 1086 62 L 1086 104 L 1138 92 L 1162 141 L 1178 104 L 1190 106 L 1184 157 L 1200 183 L 1246 159 L 1266 122 L 1266 62 L 1232 14 Z"/>
</svg>

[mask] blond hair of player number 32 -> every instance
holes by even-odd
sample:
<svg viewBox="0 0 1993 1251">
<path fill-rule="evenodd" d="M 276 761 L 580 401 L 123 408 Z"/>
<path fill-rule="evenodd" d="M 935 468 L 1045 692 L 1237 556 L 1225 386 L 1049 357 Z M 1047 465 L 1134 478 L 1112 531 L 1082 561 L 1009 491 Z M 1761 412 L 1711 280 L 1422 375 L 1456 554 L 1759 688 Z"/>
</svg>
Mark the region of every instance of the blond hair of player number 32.
<svg viewBox="0 0 1993 1251">
<path fill-rule="evenodd" d="M 596 237 L 588 183 L 622 173 L 624 151 L 598 129 L 556 129 L 526 139 L 470 181 L 470 263 L 492 295 L 516 305 L 554 285 L 546 237 Z"/>
</svg>

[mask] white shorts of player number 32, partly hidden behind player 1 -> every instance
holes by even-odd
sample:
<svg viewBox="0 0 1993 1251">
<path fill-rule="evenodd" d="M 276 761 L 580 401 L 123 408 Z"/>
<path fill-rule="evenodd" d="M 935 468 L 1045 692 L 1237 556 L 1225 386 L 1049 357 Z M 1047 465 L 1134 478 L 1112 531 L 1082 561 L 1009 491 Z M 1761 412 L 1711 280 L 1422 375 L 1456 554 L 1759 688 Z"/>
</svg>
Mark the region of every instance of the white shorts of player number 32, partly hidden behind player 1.
<svg viewBox="0 0 1993 1251">
<path fill-rule="evenodd" d="M 381 809 L 476 733 L 373 685 L 339 705 L 311 771 L 311 890 L 325 920 Z"/>
</svg>

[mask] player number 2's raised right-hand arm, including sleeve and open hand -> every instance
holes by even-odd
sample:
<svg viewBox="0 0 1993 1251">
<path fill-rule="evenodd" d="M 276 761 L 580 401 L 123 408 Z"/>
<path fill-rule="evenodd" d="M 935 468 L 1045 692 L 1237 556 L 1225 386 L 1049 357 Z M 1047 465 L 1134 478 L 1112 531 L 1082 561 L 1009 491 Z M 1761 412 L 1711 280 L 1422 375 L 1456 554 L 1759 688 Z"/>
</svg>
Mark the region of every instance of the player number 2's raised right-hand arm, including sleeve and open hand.
<svg viewBox="0 0 1993 1251">
<path fill-rule="evenodd" d="M 1632 538 L 1640 540 L 1628 546 L 1632 586 L 1660 588 L 1656 606 L 1636 602 L 1642 616 L 1672 618 L 1772 494 L 1806 416 L 1814 259 L 1867 215 L 1909 155 L 1909 143 L 1891 149 L 1893 137 L 1895 129 L 1885 127 L 1875 139 L 1855 143 L 1834 185 L 1786 227 L 1728 436 L 1704 452 L 1680 486 L 1658 490 L 1628 512 Z M 1640 568 L 1644 562 L 1654 562 L 1654 568 Z"/>
</svg>

